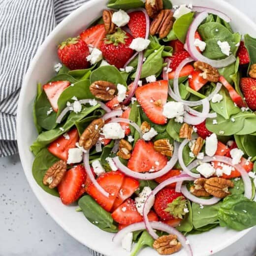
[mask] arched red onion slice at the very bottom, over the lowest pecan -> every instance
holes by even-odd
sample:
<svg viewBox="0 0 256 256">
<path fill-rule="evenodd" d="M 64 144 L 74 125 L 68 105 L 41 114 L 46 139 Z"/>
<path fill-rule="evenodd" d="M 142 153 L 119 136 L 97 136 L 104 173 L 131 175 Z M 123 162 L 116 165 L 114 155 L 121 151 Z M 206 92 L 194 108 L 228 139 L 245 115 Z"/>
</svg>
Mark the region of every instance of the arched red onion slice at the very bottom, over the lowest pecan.
<svg viewBox="0 0 256 256">
<path fill-rule="evenodd" d="M 174 227 L 172 227 L 168 224 L 164 224 L 162 222 L 150 222 L 149 224 L 154 229 L 164 231 L 168 234 L 176 235 L 178 241 L 180 241 L 180 243 L 182 244 L 182 246 L 186 250 L 187 255 L 188 256 L 193 256 L 192 249 L 191 249 L 191 246 L 190 246 L 187 238 L 181 232 L 179 232 L 176 228 L 174 228 Z M 114 235 L 113 242 L 115 244 L 120 244 L 122 242 L 123 238 L 129 232 L 133 232 L 133 231 L 137 231 L 137 230 L 143 230 L 145 228 L 146 228 L 146 225 L 145 225 L 144 222 L 138 222 L 138 223 L 130 224 L 130 225 L 122 228 L 117 234 Z M 156 234 L 156 237 L 158 238 L 159 236 Z"/>
</svg>

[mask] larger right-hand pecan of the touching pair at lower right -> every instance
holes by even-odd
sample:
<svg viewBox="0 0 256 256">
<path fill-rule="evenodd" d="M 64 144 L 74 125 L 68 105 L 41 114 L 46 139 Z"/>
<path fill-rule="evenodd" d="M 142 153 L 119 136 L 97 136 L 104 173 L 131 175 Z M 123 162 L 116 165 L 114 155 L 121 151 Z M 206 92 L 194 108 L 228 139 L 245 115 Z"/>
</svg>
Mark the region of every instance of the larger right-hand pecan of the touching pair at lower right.
<svg viewBox="0 0 256 256">
<path fill-rule="evenodd" d="M 233 187 L 234 183 L 232 181 L 217 177 L 206 180 L 204 184 L 206 192 L 219 198 L 224 198 L 229 195 L 230 192 L 228 188 Z"/>
</svg>

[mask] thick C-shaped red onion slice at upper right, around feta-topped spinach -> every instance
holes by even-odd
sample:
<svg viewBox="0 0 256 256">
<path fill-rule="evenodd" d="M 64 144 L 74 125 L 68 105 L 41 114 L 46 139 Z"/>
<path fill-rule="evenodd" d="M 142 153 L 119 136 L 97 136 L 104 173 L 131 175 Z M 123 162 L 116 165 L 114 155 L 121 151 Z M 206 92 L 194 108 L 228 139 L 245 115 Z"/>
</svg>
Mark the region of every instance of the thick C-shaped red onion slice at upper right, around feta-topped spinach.
<svg viewBox="0 0 256 256">
<path fill-rule="evenodd" d="M 204 19 L 206 19 L 207 16 L 208 16 L 208 13 L 206 11 L 199 13 L 194 18 L 192 24 L 190 25 L 189 31 L 187 33 L 187 39 L 186 39 L 188 52 L 190 53 L 192 59 L 195 61 L 206 62 L 216 68 L 228 66 L 236 61 L 236 58 L 233 55 L 228 56 L 224 60 L 211 60 L 203 56 L 200 52 L 198 52 L 194 45 L 194 34 L 197 28 L 199 27 L 199 25 L 201 24 L 201 22 Z"/>
</svg>

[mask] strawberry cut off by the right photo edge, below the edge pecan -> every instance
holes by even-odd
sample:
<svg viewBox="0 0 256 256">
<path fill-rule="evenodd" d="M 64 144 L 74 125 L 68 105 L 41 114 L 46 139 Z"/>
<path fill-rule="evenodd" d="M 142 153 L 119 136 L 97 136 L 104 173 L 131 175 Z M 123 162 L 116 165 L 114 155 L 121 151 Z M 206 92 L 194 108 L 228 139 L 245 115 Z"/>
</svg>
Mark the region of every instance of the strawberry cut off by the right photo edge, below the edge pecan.
<svg viewBox="0 0 256 256">
<path fill-rule="evenodd" d="M 253 111 L 256 110 L 256 79 L 241 78 L 240 87 L 245 96 L 245 101 Z"/>
</svg>

